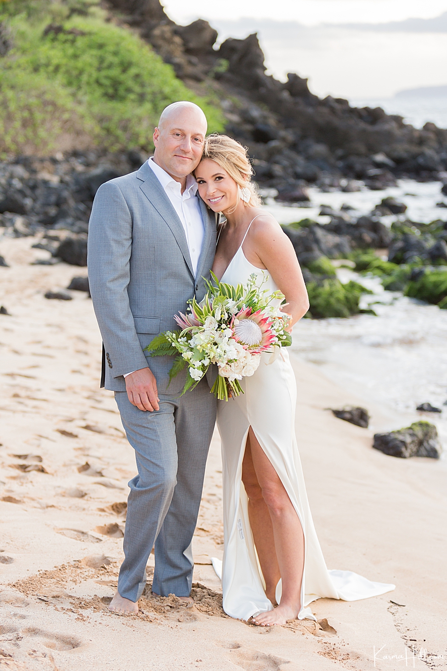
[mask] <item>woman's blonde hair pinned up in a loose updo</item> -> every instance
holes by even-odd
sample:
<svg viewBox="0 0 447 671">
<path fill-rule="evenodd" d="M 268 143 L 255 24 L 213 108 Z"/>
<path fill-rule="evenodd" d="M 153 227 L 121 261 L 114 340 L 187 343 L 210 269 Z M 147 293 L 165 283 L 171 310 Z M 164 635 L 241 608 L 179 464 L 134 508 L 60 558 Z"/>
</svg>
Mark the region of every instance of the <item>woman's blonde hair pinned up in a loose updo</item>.
<svg viewBox="0 0 447 671">
<path fill-rule="evenodd" d="M 261 197 L 257 193 L 256 186 L 251 183 L 253 168 L 247 155 L 247 149 L 239 142 L 229 138 L 227 135 L 213 133 L 205 138 L 202 160 L 209 158 L 215 161 L 222 170 L 235 180 L 239 189 L 248 189 L 250 199 L 245 205 L 257 207 L 261 205 Z M 236 207 L 241 200 L 241 191 L 238 189 Z M 234 210 L 233 210 L 234 211 Z"/>
</svg>

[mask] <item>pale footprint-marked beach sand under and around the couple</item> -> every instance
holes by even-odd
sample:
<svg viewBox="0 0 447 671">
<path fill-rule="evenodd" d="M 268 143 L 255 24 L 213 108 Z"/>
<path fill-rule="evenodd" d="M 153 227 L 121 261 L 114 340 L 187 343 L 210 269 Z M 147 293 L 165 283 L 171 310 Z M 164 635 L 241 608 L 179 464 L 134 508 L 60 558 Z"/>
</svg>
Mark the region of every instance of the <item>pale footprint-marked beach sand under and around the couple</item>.
<svg viewBox="0 0 447 671">
<path fill-rule="evenodd" d="M 32 265 L 38 238 L 3 238 L 0 268 L 0 668 L 11 671 L 326 671 L 445 668 L 446 460 L 373 450 L 373 431 L 330 407 L 392 411 L 294 358 L 296 431 L 328 568 L 393 582 L 394 592 L 321 599 L 311 621 L 259 629 L 222 611 L 210 563 L 222 558 L 218 433 L 194 535 L 194 605 L 151 595 L 136 617 L 109 613 L 135 474 L 113 393 L 99 389 L 101 337 L 90 299 L 48 300 L 85 268 Z M 396 424 L 401 419 L 395 420 Z M 395 428 L 398 428 L 396 426 Z"/>
</svg>

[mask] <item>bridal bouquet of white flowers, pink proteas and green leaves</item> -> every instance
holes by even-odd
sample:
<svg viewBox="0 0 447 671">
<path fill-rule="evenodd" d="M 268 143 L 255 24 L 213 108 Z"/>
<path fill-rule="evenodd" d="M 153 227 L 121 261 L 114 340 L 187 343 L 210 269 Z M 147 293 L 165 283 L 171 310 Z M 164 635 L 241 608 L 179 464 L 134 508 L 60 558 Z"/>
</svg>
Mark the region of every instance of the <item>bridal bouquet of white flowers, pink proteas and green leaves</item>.
<svg viewBox="0 0 447 671">
<path fill-rule="evenodd" d="M 200 303 L 192 299 L 188 314 L 174 317 L 180 329 L 160 333 L 145 350 L 151 356 L 177 355 L 170 380 L 188 368 L 182 394 L 194 389 L 210 364 L 217 364 L 218 376 L 211 391 L 221 401 L 228 401 L 229 395 L 243 393 L 239 380 L 253 375 L 261 352 L 292 344 L 286 330 L 291 317 L 279 309 L 284 295 L 269 293 L 262 284 L 258 287 L 256 274 L 245 287 L 226 285 L 214 274 L 212 278 L 216 286 L 206 282 L 204 299 Z"/>
</svg>

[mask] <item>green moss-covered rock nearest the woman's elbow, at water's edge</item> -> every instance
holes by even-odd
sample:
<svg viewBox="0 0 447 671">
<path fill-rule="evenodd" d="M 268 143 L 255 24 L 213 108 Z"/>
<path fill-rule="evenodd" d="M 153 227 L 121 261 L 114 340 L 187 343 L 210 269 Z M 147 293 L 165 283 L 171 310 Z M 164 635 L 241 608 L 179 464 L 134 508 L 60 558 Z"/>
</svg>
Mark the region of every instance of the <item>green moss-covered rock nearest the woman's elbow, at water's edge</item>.
<svg viewBox="0 0 447 671">
<path fill-rule="evenodd" d="M 360 312 L 359 300 L 363 293 L 372 293 L 358 282 L 342 285 L 340 280 L 327 278 L 307 285 L 310 313 L 313 318 L 350 317 Z"/>
</svg>

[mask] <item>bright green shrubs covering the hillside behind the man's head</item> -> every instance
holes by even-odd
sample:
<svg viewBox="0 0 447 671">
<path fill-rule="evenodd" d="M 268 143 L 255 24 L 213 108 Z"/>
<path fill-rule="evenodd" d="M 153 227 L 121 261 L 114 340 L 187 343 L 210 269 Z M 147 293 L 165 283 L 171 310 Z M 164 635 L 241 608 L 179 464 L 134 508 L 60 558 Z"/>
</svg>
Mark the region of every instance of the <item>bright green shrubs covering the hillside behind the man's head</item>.
<svg viewBox="0 0 447 671">
<path fill-rule="evenodd" d="M 44 17 L 28 20 L 23 13 L 11 21 L 15 48 L 0 60 L 1 97 L 6 101 L 0 107 L 0 129 L 6 129 L 3 151 L 17 152 L 27 142 L 40 149 L 49 146 L 68 121 L 109 150 L 149 150 L 159 114 L 178 100 L 202 107 L 208 132 L 223 130 L 220 110 L 190 91 L 172 66 L 133 32 L 88 15 L 92 4 L 92 0 L 38 3 L 41 14 L 42 7 L 48 7 Z M 44 27 L 56 9 L 71 5 L 76 13 L 62 21 L 64 31 L 45 36 Z M 29 129 L 38 127 L 40 119 L 51 119 L 54 127 L 43 123 L 33 137 Z"/>
</svg>

